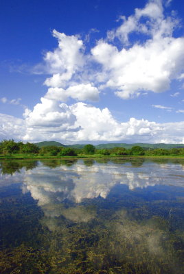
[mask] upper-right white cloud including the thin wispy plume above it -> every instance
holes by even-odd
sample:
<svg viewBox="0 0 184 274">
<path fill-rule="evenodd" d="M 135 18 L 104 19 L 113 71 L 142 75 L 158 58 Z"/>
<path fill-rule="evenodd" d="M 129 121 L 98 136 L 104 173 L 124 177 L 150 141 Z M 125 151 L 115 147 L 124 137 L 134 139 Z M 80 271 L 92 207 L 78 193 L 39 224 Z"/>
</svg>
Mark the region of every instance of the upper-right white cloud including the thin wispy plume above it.
<svg viewBox="0 0 184 274">
<path fill-rule="evenodd" d="M 143 17 L 146 17 L 144 24 Z M 101 87 L 112 88 L 122 99 L 139 96 L 143 91 L 169 90 L 170 82 L 183 69 L 184 39 L 172 36 L 178 21 L 163 16 L 161 1 L 150 1 L 145 8 L 136 9 L 133 16 L 122 19 L 120 27 L 108 32 L 111 43 L 100 40 L 91 50 L 95 61 L 102 64 Z M 146 42 L 139 40 L 131 45 L 128 38 L 131 32 L 138 37 L 143 33 Z M 112 44 L 114 38 L 122 42 L 122 49 Z"/>
</svg>

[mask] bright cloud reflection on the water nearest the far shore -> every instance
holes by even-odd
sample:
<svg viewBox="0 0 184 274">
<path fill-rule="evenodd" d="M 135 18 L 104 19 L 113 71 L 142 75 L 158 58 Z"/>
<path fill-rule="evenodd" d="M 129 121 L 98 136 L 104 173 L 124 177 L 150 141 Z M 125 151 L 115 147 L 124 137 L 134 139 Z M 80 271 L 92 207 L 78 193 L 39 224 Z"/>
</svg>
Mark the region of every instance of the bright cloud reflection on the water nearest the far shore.
<svg viewBox="0 0 184 274">
<path fill-rule="evenodd" d="M 65 199 L 76 203 L 97 197 L 106 199 L 116 184 L 125 184 L 130 190 L 156 184 L 183 186 L 182 165 L 146 162 L 135 168 L 129 163 L 95 162 L 87 166 L 79 160 L 71 166 L 61 165 L 52 170 L 38 166 L 32 171 L 25 171 L 24 177 L 24 188 L 38 200 L 39 206 Z"/>
</svg>

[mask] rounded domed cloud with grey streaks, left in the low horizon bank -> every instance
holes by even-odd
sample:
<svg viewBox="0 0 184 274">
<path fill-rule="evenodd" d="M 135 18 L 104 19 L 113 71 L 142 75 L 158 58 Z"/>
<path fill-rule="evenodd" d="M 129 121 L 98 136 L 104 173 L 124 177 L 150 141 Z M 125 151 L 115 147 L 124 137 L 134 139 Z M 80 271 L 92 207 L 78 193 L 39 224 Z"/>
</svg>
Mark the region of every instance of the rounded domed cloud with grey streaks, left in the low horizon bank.
<svg viewBox="0 0 184 274">
<path fill-rule="evenodd" d="M 33 111 L 25 109 L 24 117 L 27 126 L 24 140 L 60 139 L 63 132 L 80 129 L 73 127 L 76 116 L 69 106 L 52 99 L 41 98 Z"/>
</svg>

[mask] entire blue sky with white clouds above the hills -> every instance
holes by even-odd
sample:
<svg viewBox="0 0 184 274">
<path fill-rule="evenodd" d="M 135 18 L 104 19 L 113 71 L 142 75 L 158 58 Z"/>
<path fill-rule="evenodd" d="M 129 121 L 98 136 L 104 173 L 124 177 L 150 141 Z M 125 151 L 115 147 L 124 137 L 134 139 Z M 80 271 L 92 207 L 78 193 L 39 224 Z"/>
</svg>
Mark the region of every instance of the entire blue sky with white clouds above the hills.
<svg viewBox="0 0 184 274">
<path fill-rule="evenodd" d="M 1 0 L 0 141 L 184 143 L 184 2 Z"/>
</svg>

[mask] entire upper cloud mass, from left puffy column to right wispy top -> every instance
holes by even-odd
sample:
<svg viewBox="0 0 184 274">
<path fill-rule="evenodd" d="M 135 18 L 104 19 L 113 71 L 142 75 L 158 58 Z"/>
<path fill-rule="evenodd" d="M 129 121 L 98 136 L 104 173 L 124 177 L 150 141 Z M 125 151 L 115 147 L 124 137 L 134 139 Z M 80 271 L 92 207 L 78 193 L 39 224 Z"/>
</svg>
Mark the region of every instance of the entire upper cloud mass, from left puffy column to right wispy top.
<svg viewBox="0 0 184 274">
<path fill-rule="evenodd" d="M 45 54 L 44 65 L 35 67 L 52 74 L 45 80 L 47 96 L 59 93 L 63 101 L 68 97 L 96 101 L 98 90 L 108 88 L 130 99 L 148 91 L 169 90 L 173 79 L 183 80 L 184 38 L 174 38 L 179 20 L 174 13 L 165 16 L 161 0 L 150 0 L 133 15 L 119 19 L 122 24 L 98 40 L 91 53 L 85 51 L 87 41 L 54 29 L 58 47 Z"/>
</svg>

